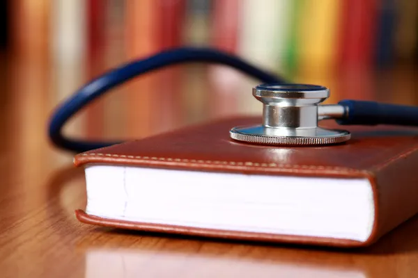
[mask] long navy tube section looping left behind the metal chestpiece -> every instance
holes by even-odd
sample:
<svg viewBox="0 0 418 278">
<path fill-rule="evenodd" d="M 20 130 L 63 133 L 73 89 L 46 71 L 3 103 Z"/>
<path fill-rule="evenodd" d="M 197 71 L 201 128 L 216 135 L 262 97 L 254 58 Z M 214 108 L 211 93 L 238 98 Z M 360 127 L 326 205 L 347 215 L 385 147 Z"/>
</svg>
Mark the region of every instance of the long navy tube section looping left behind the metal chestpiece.
<svg viewBox="0 0 418 278">
<path fill-rule="evenodd" d="M 171 49 L 148 58 L 134 60 L 131 63 L 111 70 L 84 85 L 84 87 L 80 88 L 74 95 L 66 99 L 63 104 L 54 111 L 49 122 L 49 139 L 56 147 L 72 152 L 86 152 L 90 149 L 98 149 L 100 147 L 107 147 L 118 143 L 88 142 L 85 140 L 67 138 L 63 136 L 62 129 L 65 123 L 68 122 L 75 113 L 94 99 L 104 95 L 104 93 L 108 92 L 111 88 L 116 87 L 116 85 L 121 85 L 134 77 L 145 74 L 146 72 L 158 70 L 162 67 L 191 62 L 228 65 L 265 83 L 284 82 L 281 78 L 260 70 L 244 60 L 223 53 L 222 51 L 191 47 Z"/>
</svg>

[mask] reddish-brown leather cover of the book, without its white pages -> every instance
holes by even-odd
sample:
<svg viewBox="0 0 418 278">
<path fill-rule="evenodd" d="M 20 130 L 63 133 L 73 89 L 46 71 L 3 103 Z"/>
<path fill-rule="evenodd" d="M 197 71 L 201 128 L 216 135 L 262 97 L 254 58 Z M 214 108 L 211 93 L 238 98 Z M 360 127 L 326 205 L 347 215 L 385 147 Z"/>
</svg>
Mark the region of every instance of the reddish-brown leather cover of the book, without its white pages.
<svg viewBox="0 0 418 278">
<path fill-rule="evenodd" d="M 343 129 L 352 133 L 348 142 L 320 147 L 250 145 L 229 138 L 231 127 L 260 122 L 261 117 L 236 117 L 187 126 L 169 133 L 77 154 L 74 161 L 76 166 L 101 163 L 177 170 L 369 179 L 373 189 L 375 221 L 371 236 L 365 242 L 127 222 L 88 215 L 82 210 L 76 211 L 77 219 L 105 227 L 171 234 L 359 247 L 371 245 L 418 212 L 417 129 L 399 126 L 343 126 Z M 333 121 L 323 121 L 320 126 L 341 129 Z"/>
</svg>

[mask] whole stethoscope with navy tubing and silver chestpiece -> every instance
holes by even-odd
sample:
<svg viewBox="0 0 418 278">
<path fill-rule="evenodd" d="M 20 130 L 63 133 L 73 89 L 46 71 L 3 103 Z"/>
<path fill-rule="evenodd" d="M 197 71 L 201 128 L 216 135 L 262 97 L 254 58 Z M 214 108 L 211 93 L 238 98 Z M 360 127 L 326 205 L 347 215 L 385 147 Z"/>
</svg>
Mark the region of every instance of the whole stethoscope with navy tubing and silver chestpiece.
<svg viewBox="0 0 418 278">
<path fill-rule="evenodd" d="M 318 126 L 318 122 L 324 119 L 335 119 L 341 125 L 418 126 L 418 107 L 355 100 L 320 105 L 330 97 L 328 88 L 320 85 L 288 83 L 279 76 L 260 70 L 222 51 L 185 47 L 134 60 L 86 84 L 54 111 L 49 123 L 50 140 L 56 147 L 73 152 L 86 152 L 118 143 L 67 138 L 63 136 L 62 129 L 77 111 L 116 85 L 140 74 L 185 62 L 229 65 L 263 82 L 252 89 L 252 95 L 263 104 L 261 124 L 231 127 L 229 131 L 231 140 L 258 145 L 318 146 L 346 142 L 350 139 L 349 131 L 324 129 Z"/>
</svg>

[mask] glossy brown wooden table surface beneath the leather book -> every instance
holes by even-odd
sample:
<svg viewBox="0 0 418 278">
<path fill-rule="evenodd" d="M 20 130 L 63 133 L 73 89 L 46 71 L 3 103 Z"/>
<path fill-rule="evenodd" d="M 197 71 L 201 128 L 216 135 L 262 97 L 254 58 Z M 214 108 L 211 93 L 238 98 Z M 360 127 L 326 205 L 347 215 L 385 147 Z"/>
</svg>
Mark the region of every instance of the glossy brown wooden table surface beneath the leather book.
<svg viewBox="0 0 418 278">
<path fill-rule="evenodd" d="M 361 250 L 80 224 L 74 211 L 86 204 L 84 172 L 47 140 L 57 100 L 44 64 L 1 63 L 0 277 L 418 277 L 417 217 Z"/>
</svg>

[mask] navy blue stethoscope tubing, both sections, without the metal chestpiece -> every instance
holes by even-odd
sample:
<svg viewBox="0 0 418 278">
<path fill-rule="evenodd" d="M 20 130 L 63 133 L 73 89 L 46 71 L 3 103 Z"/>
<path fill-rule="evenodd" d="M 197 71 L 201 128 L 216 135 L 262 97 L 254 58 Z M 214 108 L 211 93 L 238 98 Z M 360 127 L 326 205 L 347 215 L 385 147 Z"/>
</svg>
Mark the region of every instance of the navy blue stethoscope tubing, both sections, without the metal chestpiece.
<svg viewBox="0 0 418 278">
<path fill-rule="evenodd" d="M 134 60 L 114 70 L 102 74 L 77 90 L 74 95 L 63 101 L 53 112 L 49 122 L 49 139 L 61 149 L 71 152 L 86 152 L 91 149 L 107 147 L 119 142 L 93 142 L 76 140 L 63 135 L 63 126 L 79 110 L 94 99 L 100 97 L 116 85 L 121 85 L 140 74 L 158 70 L 179 63 L 205 62 L 228 65 L 244 74 L 259 79 L 263 83 L 288 83 L 280 76 L 258 69 L 245 60 L 226 54 L 217 49 L 180 47 L 169 49 L 144 59 Z M 339 124 L 396 124 L 418 125 L 418 108 L 380 104 L 375 101 L 344 100 L 339 104 L 347 106 L 348 115 L 339 119 Z"/>
</svg>

